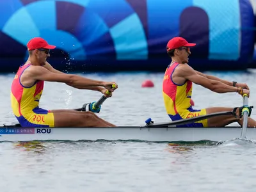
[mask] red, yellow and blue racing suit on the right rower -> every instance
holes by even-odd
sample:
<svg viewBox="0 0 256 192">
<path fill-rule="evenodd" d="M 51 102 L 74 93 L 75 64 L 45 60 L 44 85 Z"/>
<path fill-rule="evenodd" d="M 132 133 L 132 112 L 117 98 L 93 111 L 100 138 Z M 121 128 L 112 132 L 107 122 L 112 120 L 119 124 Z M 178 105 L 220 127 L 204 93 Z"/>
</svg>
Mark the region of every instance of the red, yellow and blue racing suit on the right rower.
<svg viewBox="0 0 256 192">
<path fill-rule="evenodd" d="M 192 82 L 189 80 L 184 84 L 176 84 L 173 82 L 172 74 L 178 66 L 179 63 L 173 63 L 173 65 L 169 65 L 166 68 L 164 73 L 163 99 L 168 116 L 175 121 L 206 115 L 205 109 L 195 110 L 190 104 L 193 89 Z M 202 120 L 193 124 L 177 125 L 177 127 L 207 127 L 207 120 Z"/>
</svg>

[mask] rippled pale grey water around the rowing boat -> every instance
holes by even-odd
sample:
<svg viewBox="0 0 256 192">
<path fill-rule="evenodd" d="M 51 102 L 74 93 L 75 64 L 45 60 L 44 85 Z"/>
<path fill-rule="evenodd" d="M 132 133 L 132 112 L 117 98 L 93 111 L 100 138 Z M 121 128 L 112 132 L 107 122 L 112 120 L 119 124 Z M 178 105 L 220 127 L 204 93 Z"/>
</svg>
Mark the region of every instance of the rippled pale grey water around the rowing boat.
<svg viewBox="0 0 256 192">
<path fill-rule="evenodd" d="M 248 83 L 250 105 L 256 102 L 255 73 L 207 72 L 228 81 Z M 144 125 L 148 117 L 155 122 L 169 121 L 161 93 L 163 74 L 83 75 L 118 83 L 118 90 L 104 102 L 99 113 L 105 120 L 116 125 Z M 16 122 L 10 108 L 13 76 L 0 76 L 1 124 Z M 154 88 L 141 88 L 145 79 L 154 81 Z M 79 108 L 100 97 L 99 92 L 45 83 L 40 107 Z M 198 85 L 194 85 L 192 99 L 197 109 L 243 104 L 237 93 L 213 93 Z M 255 111 L 252 118 L 256 118 Z M 252 140 L 230 140 L 221 145 L 120 141 L 0 143 L 0 188 L 1 192 L 255 191 L 256 144 Z"/>
</svg>

